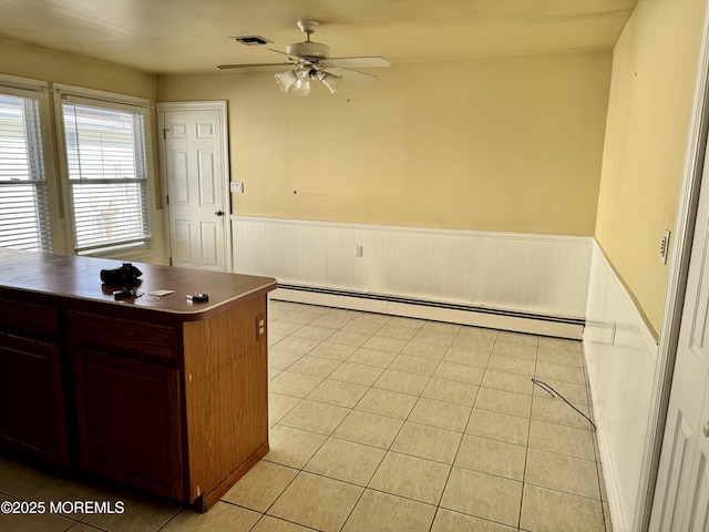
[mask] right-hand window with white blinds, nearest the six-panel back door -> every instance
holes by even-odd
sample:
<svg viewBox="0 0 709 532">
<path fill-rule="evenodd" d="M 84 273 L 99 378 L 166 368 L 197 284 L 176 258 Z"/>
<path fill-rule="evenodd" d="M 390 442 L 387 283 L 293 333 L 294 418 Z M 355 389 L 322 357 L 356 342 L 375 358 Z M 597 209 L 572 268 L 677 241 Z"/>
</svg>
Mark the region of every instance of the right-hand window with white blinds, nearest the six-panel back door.
<svg viewBox="0 0 709 532">
<path fill-rule="evenodd" d="M 147 106 L 60 92 L 74 250 L 146 246 Z"/>
</svg>

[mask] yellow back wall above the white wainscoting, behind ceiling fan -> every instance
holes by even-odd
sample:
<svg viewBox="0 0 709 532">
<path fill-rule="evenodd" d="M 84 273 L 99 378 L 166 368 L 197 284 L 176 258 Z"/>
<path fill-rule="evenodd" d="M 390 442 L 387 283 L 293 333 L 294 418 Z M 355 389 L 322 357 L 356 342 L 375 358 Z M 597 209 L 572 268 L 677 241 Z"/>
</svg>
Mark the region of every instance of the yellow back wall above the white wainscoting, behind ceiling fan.
<svg viewBox="0 0 709 532">
<path fill-rule="evenodd" d="M 305 99 L 273 72 L 160 75 L 157 98 L 228 101 L 236 214 L 593 235 L 610 59 L 407 63 Z"/>
</svg>

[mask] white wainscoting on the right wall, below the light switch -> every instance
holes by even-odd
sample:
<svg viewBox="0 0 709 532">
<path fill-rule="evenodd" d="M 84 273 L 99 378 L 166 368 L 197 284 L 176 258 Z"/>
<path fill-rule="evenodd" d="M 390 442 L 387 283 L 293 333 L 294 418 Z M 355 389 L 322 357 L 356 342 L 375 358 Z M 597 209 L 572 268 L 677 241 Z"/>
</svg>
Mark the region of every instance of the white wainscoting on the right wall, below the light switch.
<svg viewBox="0 0 709 532">
<path fill-rule="evenodd" d="M 639 530 L 657 342 L 595 243 L 584 351 L 613 529 Z"/>
</svg>

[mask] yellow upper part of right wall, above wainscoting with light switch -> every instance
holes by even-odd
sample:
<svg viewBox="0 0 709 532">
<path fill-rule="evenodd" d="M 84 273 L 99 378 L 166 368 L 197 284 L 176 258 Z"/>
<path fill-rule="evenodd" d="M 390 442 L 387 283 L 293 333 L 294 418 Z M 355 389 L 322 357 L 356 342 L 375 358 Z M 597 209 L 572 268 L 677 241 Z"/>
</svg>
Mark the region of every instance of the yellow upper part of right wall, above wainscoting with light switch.
<svg viewBox="0 0 709 532">
<path fill-rule="evenodd" d="M 613 62 L 596 239 L 658 331 L 703 0 L 640 0 Z"/>
</svg>

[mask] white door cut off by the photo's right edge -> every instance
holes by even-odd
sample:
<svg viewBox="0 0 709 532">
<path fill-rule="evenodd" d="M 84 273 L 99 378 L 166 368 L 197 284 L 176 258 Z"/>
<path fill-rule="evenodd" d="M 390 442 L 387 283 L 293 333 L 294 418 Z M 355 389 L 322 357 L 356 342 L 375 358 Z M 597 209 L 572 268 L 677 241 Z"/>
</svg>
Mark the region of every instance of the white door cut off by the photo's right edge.
<svg viewBox="0 0 709 532">
<path fill-rule="evenodd" d="M 709 161 L 705 170 L 650 530 L 709 531 Z"/>
</svg>

